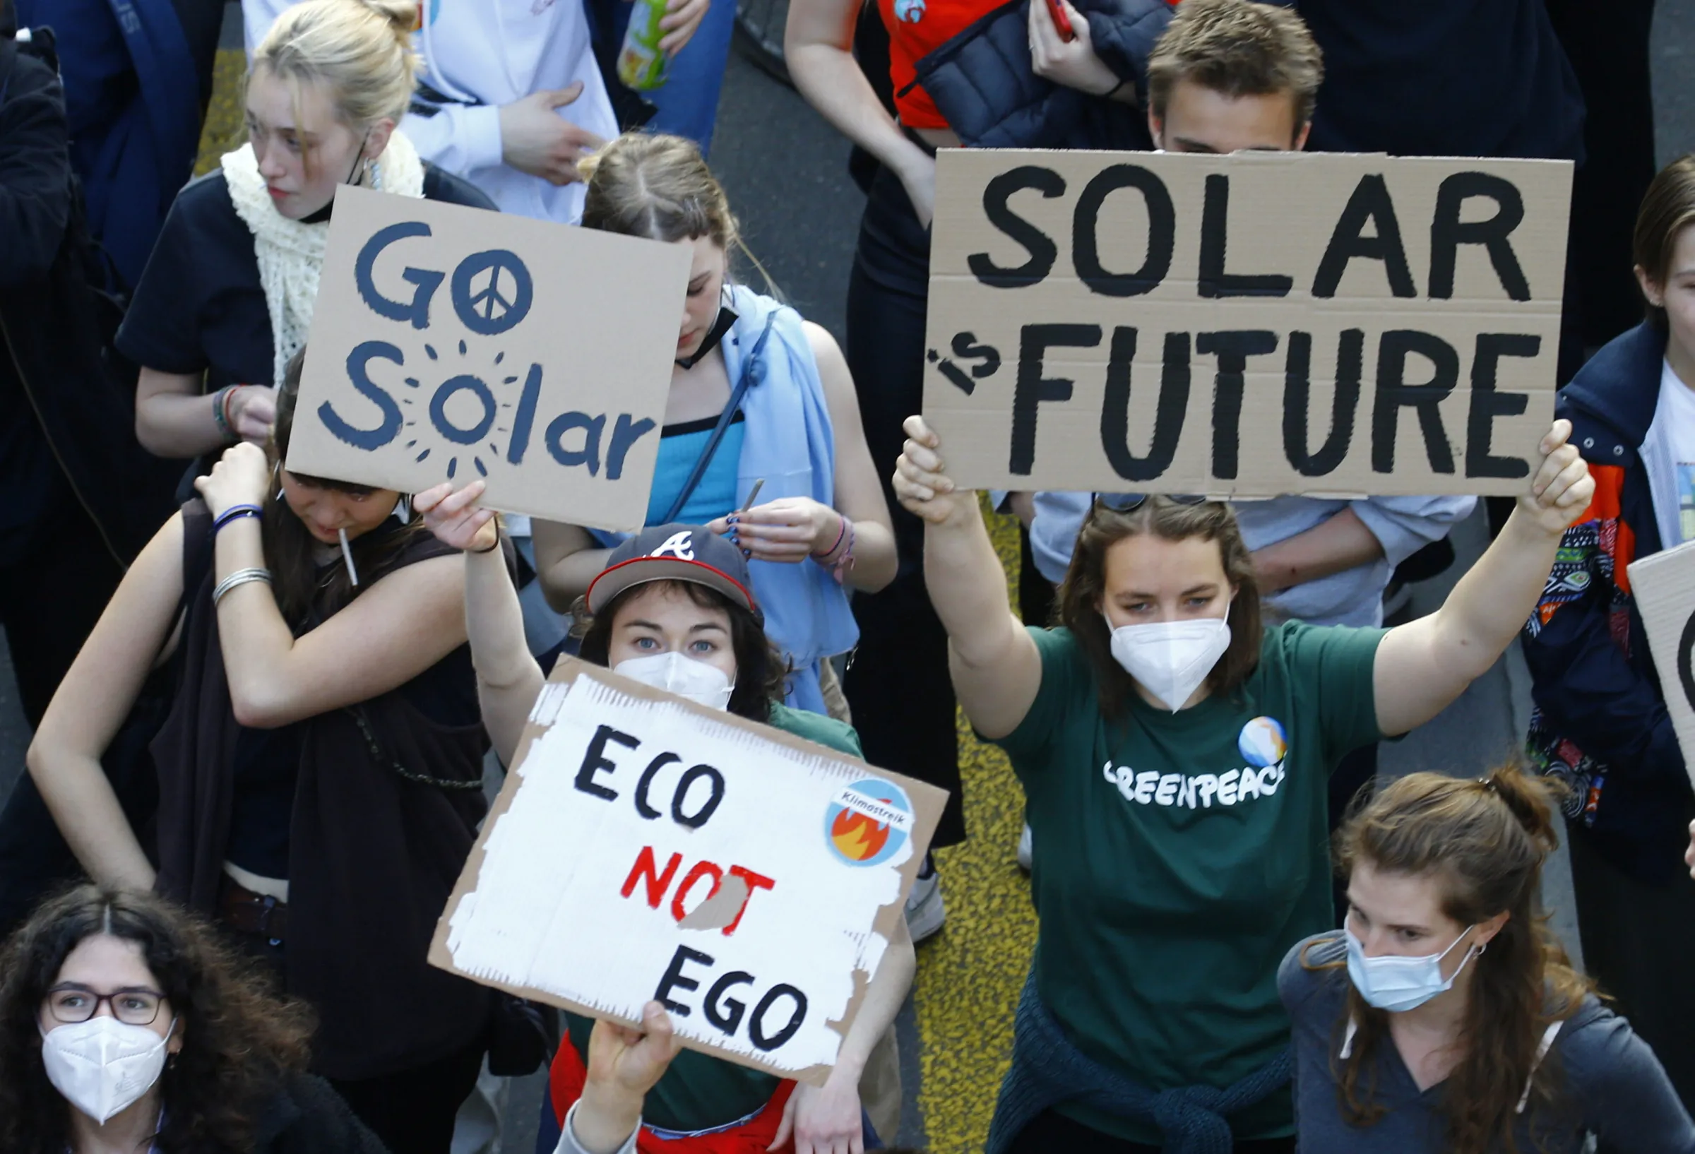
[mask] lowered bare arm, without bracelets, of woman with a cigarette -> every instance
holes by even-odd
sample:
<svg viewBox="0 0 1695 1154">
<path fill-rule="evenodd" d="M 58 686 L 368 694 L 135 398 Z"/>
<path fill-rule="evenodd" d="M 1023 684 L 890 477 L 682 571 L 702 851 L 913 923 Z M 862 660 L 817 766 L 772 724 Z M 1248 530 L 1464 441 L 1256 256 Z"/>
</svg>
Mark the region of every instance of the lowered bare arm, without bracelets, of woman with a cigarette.
<svg viewBox="0 0 1695 1154">
<path fill-rule="evenodd" d="M 153 888 L 153 866 L 100 766 L 159 661 L 183 596 L 183 519 L 171 517 L 124 574 L 41 718 L 25 763 L 88 876 Z"/>
</svg>

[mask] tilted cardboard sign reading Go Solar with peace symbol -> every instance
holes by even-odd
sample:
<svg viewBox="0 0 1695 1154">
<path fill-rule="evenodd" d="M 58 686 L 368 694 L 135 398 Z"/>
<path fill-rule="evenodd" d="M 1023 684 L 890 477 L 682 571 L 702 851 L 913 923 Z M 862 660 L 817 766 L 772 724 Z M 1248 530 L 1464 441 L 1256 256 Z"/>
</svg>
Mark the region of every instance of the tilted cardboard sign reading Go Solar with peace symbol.
<svg viewBox="0 0 1695 1154">
<path fill-rule="evenodd" d="M 288 469 L 639 529 L 685 246 L 342 185 Z"/>
</svg>

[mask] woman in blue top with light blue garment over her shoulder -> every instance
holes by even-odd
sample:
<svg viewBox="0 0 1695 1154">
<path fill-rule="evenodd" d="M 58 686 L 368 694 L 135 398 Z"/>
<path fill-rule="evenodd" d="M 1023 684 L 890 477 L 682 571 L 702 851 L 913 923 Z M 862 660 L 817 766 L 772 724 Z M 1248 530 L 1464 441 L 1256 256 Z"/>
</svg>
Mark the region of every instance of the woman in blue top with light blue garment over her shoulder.
<svg viewBox="0 0 1695 1154">
<path fill-rule="evenodd" d="M 788 705 L 822 713 L 822 663 L 859 639 L 848 590 L 895 576 L 848 363 L 793 308 L 727 283 L 736 220 L 692 142 L 629 134 L 580 168 L 583 227 L 693 256 L 647 524 L 707 525 L 742 549 L 766 634 L 793 666 Z M 581 596 L 620 539 L 536 522 L 549 603 L 563 612 Z"/>
</svg>

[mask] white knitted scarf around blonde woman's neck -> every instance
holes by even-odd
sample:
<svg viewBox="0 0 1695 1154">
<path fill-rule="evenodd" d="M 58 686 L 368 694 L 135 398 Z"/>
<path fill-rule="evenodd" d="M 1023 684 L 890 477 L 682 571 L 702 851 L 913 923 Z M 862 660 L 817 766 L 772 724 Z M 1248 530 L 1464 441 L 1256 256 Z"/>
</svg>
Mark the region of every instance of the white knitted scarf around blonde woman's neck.
<svg viewBox="0 0 1695 1154">
<path fill-rule="evenodd" d="M 424 195 L 424 161 L 417 149 L 398 130 L 388 136 L 388 147 L 376 159 L 381 173 L 381 190 L 402 197 Z M 329 220 L 303 224 L 276 212 L 271 195 L 259 176 L 253 146 L 242 144 L 234 153 L 224 153 L 224 181 L 236 215 L 253 232 L 253 251 L 259 258 L 259 285 L 264 288 L 264 307 L 271 313 L 271 344 L 276 359 L 271 366 L 271 383 L 283 383 L 283 366 L 307 342 L 312 327 L 312 305 L 317 300 L 319 269 L 324 268 L 324 242 L 329 239 Z"/>
</svg>

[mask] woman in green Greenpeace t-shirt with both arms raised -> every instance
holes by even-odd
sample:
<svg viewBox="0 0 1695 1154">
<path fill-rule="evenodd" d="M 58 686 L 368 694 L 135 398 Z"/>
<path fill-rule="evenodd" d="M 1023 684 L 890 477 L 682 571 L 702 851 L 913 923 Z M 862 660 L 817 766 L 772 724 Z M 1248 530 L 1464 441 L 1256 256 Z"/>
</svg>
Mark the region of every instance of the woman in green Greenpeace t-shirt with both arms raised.
<svg viewBox="0 0 1695 1154">
<path fill-rule="evenodd" d="M 895 473 L 959 705 L 1002 746 L 1036 834 L 1041 934 L 988 1154 L 1293 1149 L 1283 952 L 1336 925 L 1325 786 L 1502 654 L 1593 481 L 1568 422 L 1436 613 L 1398 629 L 1261 629 L 1219 502 L 1097 502 L 1058 629 L 1007 605 L 978 495 L 922 417 Z M 1229 1122 L 1225 1122 L 1229 1118 Z"/>
</svg>

